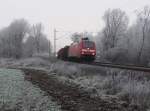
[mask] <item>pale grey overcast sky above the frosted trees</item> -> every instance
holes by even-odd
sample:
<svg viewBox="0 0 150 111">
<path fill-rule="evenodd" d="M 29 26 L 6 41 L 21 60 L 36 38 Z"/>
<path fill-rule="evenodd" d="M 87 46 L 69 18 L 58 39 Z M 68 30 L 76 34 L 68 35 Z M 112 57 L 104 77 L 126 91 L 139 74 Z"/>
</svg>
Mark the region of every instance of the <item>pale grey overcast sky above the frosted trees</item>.
<svg viewBox="0 0 150 111">
<path fill-rule="evenodd" d="M 121 8 L 135 20 L 135 10 L 150 6 L 150 0 L 0 0 L 0 28 L 14 19 L 25 18 L 30 24 L 42 22 L 47 36 L 53 40 L 58 31 L 97 32 L 104 26 L 102 16 L 108 8 Z M 68 44 L 68 33 L 58 32 L 59 47 Z M 60 45 L 62 44 L 62 45 Z"/>
</svg>

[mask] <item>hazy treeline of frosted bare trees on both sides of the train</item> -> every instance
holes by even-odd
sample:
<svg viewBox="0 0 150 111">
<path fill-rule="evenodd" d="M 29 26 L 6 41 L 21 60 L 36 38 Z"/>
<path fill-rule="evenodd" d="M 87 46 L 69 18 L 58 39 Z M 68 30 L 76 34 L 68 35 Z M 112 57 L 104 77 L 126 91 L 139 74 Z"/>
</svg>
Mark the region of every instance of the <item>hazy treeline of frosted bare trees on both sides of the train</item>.
<svg viewBox="0 0 150 111">
<path fill-rule="evenodd" d="M 104 62 L 121 64 L 150 63 L 150 7 L 135 11 L 136 21 L 129 25 L 129 17 L 121 9 L 108 9 L 104 13 L 104 28 L 96 36 L 91 33 L 74 33 L 77 41 L 86 35 L 95 37 L 97 55 Z M 0 30 L 1 57 L 31 57 L 49 52 L 50 41 L 43 33 L 42 24 L 30 25 L 26 20 L 13 21 Z"/>
</svg>

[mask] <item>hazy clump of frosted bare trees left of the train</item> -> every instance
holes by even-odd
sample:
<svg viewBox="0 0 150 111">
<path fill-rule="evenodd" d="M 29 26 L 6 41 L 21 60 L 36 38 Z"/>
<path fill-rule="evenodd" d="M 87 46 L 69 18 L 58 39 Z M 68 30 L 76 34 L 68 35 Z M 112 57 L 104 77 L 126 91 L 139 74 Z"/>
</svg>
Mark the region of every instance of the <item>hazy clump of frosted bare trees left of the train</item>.
<svg viewBox="0 0 150 111">
<path fill-rule="evenodd" d="M 0 57 L 31 57 L 49 52 L 49 47 L 41 23 L 31 26 L 26 20 L 18 19 L 0 30 Z"/>
</svg>

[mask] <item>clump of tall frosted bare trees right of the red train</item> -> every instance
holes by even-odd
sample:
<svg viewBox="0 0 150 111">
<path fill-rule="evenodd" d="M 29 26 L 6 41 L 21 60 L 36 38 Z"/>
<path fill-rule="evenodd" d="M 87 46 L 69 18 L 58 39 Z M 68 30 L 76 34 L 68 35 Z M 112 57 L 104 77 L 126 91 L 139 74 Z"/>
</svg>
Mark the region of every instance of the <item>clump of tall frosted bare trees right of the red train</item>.
<svg viewBox="0 0 150 111">
<path fill-rule="evenodd" d="M 121 9 L 109 9 L 103 20 L 105 27 L 97 35 L 100 59 L 109 62 L 143 64 L 150 62 L 150 7 L 136 11 L 136 21 Z M 100 45 L 101 44 L 101 45 Z"/>
</svg>

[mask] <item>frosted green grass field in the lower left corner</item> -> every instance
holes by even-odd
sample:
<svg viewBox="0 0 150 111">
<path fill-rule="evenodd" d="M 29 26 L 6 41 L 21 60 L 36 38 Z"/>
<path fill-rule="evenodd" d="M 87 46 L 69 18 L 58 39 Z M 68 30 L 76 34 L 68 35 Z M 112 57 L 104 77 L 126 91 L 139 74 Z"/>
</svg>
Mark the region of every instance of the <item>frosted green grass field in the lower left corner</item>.
<svg viewBox="0 0 150 111">
<path fill-rule="evenodd" d="M 23 72 L 0 69 L 0 111 L 59 111 L 38 87 L 24 81 Z"/>
</svg>

